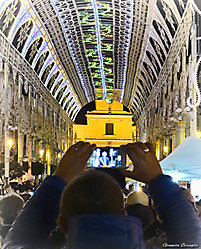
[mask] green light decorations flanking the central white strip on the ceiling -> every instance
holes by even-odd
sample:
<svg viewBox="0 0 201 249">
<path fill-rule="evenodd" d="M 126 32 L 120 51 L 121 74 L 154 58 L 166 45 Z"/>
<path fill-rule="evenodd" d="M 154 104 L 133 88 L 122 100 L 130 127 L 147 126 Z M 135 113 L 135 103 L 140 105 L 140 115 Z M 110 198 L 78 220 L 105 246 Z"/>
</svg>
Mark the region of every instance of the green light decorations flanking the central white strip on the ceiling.
<svg viewBox="0 0 201 249">
<path fill-rule="evenodd" d="M 86 47 L 86 55 L 89 61 L 89 66 L 91 69 L 91 74 L 93 77 L 93 82 L 95 85 L 95 92 L 97 93 L 97 98 L 103 98 L 103 91 L 100 90 L 102 87 L 101 83 L 101 71 L 100 71 L 100 61 L 97 53 L 97 38 L 95 30 L 94 13 L 90 0 L 85 0 L 87 5 L 85 9 L 79 11 L 79 17 L 81 25 L 89 25 L 89 28 L 83 29 L 83 41 Z M 113 9 L 112 3 L 103 3 L 100 1 L 96 2 L 99 14 L 99 25 L 100 25 L 100 35 L 101 35 L 101 50 L 103 53 L 103 70 L 105 74 L 106 90 L 113 90 Z M 107 23 L 109 20 L 109 24 Z M 83 27 L 84 27 L 83 26 Z M 111 39 L 111 42 L 110 42 Z M 108 92 L 108 91 L 107 91 Z M 98 94 L 99 93 L 99 94 Z M 113 93 L 107 93 L 113 96 Z"/>
</svg>

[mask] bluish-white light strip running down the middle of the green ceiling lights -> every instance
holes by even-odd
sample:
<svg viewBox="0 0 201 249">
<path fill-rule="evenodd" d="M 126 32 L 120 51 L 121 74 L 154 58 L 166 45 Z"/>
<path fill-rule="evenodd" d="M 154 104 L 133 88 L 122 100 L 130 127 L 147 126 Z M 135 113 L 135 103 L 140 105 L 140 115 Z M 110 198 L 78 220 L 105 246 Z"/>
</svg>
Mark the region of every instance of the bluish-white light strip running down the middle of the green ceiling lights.
<svg viewBox="0 0 201 249">
<path fill-rule="evenodd" d="M 101 35 L 100 35 L 100 21 L 98 16 L 98 7 L 96 0 L 91 0 L 93 11 L 94 11 L 94 21 L 96 27 L 96 39 L 97 39 L 97 52 L 100 61 L 100 72 L 102 77 L 102 87 L 103 87 L 103 98 L 106 99 L 106 85 L 105 85 L 105 73 L 104 73 L 104 66 L 103 66 L 103 55 L 101 51 Z"/>
</svg>

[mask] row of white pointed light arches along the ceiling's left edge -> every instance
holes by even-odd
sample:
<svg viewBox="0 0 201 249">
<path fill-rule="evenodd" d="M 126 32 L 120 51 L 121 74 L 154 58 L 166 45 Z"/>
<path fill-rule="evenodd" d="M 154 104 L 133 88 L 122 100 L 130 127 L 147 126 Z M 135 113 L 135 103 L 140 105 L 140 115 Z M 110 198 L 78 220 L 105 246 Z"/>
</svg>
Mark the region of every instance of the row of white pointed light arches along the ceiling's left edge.
<svg viewBox="0 0 201 249">
<path fill-rule="evenodd" d="M 6 1 L 0 3 L 0 20 L 4 23 L 7 14 L 12 17 L 12 20 L 7 20 L 7 23 L 9 24 L 8 27 L 1 26 L 0 29 L 3 29 L 2 32 L 4 31 L 4 35 L 8 36 L 9 42 L 21 53 L 24 59 L 28 61 L 39 78 L 48 85 L 49 90 L 53 91 L 54 85 L 56 86 L 56 83 L 58 82 L 58 78 L 63 77 L 63 72 L 60 76 L 58 76 L 58 72 L 55 73 L 55 71 L 58 70 L 61 72 L 61 67 L 56 65 L 56 56 L 50 52 L 50 43 L 47 43 L 48 40 L 43 37 L 45 34 L 43 28 L 39 28 L 38 20 L 36 21 L 36 19 L 33 19 L 35 14 L 32 12 L 32 7 L 27 5 L 28 2 L 23 2 L 21 4 L 18 0 L 9 1 L 9 3 L 6 4 L 5 2 Z M 55 63 L 53 68 L 51 68 L 53 65 L 52 63 Z M 69 81 L 65 80 L 65 82 Z M 68 91 L 75 97 L 70 87 Z M 55 95 L 56 94 L 57 93 L 55 92 Z M 78 106 L 80 106 L 77 98 L 75 98 L 75 101 Z"/>
</svg>

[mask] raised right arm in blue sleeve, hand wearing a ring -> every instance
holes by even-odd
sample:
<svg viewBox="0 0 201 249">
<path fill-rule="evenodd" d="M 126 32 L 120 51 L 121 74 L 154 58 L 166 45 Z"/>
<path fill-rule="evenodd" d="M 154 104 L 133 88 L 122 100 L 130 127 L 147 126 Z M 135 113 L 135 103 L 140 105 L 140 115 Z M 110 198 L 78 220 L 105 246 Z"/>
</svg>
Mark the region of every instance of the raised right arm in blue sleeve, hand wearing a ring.
<svg viewBox="0 0 201 249">
<path fill-rule="evenodd" d="M 201 247 L 201 223 L 198 215 L 179 186 L 170 176 L 163 175 L 152 145 L 134 143 L 122 146 L 122 149 L 134 165 L 133 171 L 123 170 L 123 173 L 149 184 L 168 243 L 178 244 L 178 247 Z"/>
</svg>

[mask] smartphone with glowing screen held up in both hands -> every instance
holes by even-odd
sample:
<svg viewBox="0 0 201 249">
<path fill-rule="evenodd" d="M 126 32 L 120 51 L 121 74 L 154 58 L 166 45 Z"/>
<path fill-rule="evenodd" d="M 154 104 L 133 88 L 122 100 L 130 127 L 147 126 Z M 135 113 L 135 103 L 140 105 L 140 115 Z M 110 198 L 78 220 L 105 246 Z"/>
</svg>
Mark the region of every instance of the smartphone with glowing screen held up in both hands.
<svg viewBox="0 0 201 249">
<path fill-rule="evenodd" d="M 118 147 L 98 147 L 93 151 L 87 166 L 94 168 L 126 167 L 126 154 Z"/>
</svg>

